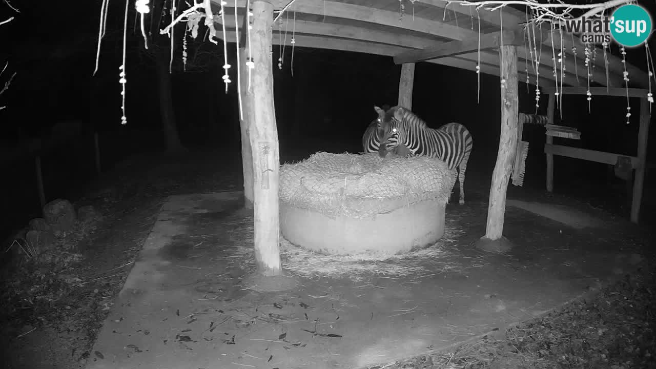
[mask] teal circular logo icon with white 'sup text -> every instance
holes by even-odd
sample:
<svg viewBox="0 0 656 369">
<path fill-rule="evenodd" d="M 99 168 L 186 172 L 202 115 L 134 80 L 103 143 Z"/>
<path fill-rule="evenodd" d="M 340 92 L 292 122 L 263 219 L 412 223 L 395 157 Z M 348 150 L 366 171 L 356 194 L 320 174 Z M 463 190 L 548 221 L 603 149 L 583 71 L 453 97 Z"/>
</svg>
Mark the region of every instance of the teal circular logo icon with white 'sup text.
<svg viewBox="0 0 656 369">
<path fill-rule="evenodd" d="M 638 46 L 651 33 L 651 16 L 639 5 L 623 5 L 613 12 L 611 34 L 624 46 Z"/>
</svg>

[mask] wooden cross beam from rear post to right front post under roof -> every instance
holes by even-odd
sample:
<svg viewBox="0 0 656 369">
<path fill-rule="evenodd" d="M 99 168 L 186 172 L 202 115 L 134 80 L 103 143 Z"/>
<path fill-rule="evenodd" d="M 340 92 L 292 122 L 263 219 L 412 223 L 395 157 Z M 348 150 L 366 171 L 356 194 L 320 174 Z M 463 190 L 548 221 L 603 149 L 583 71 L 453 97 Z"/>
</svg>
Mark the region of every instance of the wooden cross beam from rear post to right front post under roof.
<svg viewBox="0 0 656 369">
<path fill-rule="evenodd" d="M 443 58 L 444 56 L 457 56 L 472 53 L 473 51 L 484 51 L 498 49 L 503 42 L 504 45 L 523 45 L 523 33 L 513 30 L 502 32 L 485 33 L 480 37 L 470 37 L 462 41 L 449 41 L 426 47 L 422 50 L 405 51 L 394 56 L 396 64 L 424 62 L 430 59 Z"/>
</svg>

